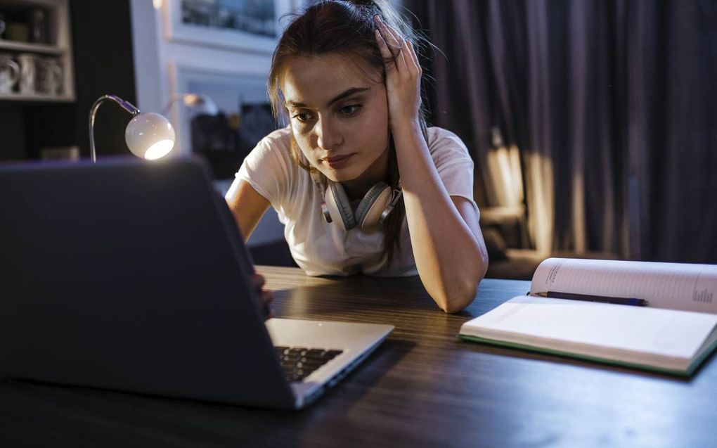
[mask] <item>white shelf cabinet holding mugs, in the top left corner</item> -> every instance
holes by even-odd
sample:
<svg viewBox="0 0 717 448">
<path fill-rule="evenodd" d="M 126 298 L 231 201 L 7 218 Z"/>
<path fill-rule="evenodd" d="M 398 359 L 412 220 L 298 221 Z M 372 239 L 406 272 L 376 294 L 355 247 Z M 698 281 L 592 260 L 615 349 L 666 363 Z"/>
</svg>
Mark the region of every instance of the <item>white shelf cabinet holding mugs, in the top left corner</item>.
<svg viewBox="0 0 717 448">
<path fill-rule="evenodd" d="M 68 0 L 0 0 L 0 102 L 75 100 Z"/>
</svg>

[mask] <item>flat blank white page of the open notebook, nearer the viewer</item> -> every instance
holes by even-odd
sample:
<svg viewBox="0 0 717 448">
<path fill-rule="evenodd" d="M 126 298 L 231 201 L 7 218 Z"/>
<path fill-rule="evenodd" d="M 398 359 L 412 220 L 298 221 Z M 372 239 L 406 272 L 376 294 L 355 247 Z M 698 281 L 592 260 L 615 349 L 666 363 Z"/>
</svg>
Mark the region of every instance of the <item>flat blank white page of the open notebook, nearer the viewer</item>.
<svg viewBox="0 0 717 448">
<path fill-rule="evenodd" d="M 589 349 L 572 345 L 576 352 L 607 358 L 617 350 L 688 360 L 715 325 L 712 314 L 521 296 L 463 324 L 461 333 L 490 338 L 483 332 L 489 330 L 503 340 L 564 351 L 578 344 Z"/>
</svg>

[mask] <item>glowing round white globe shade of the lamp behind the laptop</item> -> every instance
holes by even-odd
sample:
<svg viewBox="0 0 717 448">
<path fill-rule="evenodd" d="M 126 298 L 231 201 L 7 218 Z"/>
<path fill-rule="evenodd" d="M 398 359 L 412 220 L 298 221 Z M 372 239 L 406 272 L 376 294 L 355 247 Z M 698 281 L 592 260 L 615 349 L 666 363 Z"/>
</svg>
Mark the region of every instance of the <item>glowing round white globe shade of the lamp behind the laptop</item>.
<svg viewBox="0 0 717 448">
<path fill-rule="evenodd" d="M 140 113 L 127 125 L 125 142 L 135 156 L 154 160 L 174 148 L 174 128 L 158 113 Z"/>
</svg>

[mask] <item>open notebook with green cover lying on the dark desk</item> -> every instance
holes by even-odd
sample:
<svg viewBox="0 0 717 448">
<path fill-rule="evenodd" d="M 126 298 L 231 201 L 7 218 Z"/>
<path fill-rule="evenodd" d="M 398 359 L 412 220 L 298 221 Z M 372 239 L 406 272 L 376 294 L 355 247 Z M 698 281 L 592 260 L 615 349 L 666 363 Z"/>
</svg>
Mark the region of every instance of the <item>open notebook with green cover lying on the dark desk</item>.
<svg viewBox="0 0 717 448">
<path fill-rule="evenodd" d="M 458 336 L 688 376 L 717 347 L 717 265 L 549 258 Z"/>
</svg>

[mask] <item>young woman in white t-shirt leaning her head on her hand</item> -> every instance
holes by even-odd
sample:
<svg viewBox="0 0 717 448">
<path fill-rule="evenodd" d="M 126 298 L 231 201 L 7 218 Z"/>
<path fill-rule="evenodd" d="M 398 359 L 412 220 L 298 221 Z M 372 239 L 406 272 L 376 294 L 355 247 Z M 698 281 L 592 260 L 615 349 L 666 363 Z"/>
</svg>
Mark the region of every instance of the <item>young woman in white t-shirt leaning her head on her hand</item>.
<svg viewBox="0 0 717 448">
<path fill-rule="evenodd" d="M 381 1 L 320 1 L 294 19 L 269 75 L 289 125 L 257 144 L 226 199 L 247 239 L 273 206 L 308 275 L 418 274 L 455 313 L 488 254 L 473 161 L 455 134 L 426 128 L 413 39 Z"/>
</svg>

